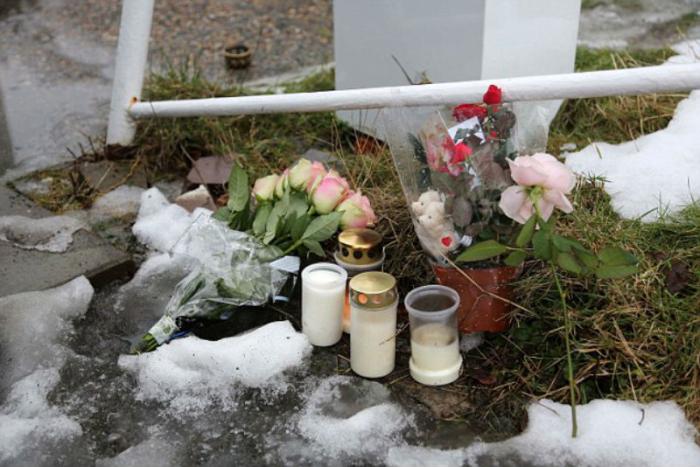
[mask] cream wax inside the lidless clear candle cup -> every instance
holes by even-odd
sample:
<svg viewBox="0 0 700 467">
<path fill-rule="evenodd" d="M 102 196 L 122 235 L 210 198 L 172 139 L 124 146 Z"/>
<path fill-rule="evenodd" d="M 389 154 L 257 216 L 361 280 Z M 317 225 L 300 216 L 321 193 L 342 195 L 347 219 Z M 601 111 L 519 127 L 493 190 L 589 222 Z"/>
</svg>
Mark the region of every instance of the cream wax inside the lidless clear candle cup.
<svg viewBox="0 0 700 467">
<path fill-rule="evenodd" d="M 457 333 L 442 323 L 429 323 L 411 331 L 411 358 L 417 368 L 441 371 L 459 360 Z"/>
</svg>

